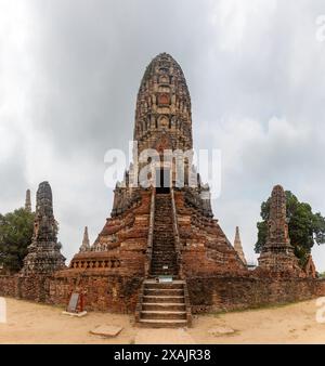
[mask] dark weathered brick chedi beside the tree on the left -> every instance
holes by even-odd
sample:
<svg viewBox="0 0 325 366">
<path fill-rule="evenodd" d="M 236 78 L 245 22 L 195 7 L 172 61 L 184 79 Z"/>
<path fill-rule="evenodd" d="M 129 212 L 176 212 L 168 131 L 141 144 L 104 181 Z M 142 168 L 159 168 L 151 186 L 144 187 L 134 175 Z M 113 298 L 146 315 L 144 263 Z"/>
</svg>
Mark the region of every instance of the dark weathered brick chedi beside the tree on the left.
<svg viewBox="0 0 325 366">
<path fill-rule="evenodd" d="M 24 259 L 23 274 L 51 274 L 65 266 L 56 235 L 52 189 L 48 182 L 42 182 L 37 191 L 34 235 Z"/>
</svg>

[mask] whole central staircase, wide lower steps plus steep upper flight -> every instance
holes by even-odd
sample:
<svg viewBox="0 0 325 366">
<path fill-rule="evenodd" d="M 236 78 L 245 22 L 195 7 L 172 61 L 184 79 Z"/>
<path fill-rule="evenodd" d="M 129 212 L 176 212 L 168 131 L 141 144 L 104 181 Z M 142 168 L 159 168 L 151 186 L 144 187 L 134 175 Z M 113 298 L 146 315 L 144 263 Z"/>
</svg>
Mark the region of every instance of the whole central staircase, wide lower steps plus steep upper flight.
<svg viewBox="0 0 325 366">
<path fill-rule="evenodd" d="M 174 244 L 171 195 L 156 194 L 150 278 L 143 282 L 135 311 L 139 326 L 176 328 L 192 324 L 186 282 L 178 278 Z M 164 275 L 172 276 L 172 282 L 156 280 Z"/>
</svg>

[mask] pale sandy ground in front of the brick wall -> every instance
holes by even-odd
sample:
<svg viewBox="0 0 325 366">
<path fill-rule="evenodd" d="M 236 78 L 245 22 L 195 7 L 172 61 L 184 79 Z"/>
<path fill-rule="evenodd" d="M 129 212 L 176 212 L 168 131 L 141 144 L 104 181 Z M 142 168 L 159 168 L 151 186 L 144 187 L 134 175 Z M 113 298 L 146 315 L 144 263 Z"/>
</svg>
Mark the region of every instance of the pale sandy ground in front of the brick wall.
<svg viewBox="0 0 325 366">
<path fill-rule="evenodd" d="M 62 314 L 61 308 L 6 299 L 6 324 L 0 343 L 325 343 L 325 324 L 315 321 L 315 301 L 227 314 L 195 316 L 190 329 L 139 329 L 133 316 L 89 313 L 82 318 Z M 100 325 L 122 326 L 112 339 L 90 335 Z M 226 327 L 227 336 L 209 330 Z"/>
</svg>

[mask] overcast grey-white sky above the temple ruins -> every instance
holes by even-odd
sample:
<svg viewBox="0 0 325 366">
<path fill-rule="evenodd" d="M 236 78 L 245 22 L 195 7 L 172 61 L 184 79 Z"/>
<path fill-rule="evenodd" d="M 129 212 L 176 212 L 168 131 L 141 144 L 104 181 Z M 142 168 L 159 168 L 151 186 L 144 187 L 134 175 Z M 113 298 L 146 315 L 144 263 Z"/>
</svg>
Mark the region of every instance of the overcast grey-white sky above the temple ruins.
<svg viewBox="0 0 325 366">
<path fill-rule="evenodd" d="M 168 52 L 195 147 L 222 152 L 213 211 L 247 259 L 273 185 L 325 214 L 322 14 L 324 0 L 0 0 L 0 212 L 48 180 L 64 254 L 84 225 L 93 241 L 113 201 L 104 154 L 128 148 L 144 69 Z M 313 254 L 325 271 L 325 246 Z"/>
</svg>

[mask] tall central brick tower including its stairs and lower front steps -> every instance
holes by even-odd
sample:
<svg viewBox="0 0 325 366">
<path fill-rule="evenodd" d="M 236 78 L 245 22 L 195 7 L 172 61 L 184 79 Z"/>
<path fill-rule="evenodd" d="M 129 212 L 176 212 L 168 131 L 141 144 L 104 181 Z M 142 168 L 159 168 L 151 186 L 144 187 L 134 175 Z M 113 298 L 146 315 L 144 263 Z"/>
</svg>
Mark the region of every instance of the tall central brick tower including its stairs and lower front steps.
<svg viewBox="0 0 325 366">
<path fill-rule="evenodd" d="M 180 65 L 167 53 L 151 62 L 141 81 L 134 141 L 133 162 L 116 184 L 110 218 L 69 271 L 144 279 L 136 308 L 142 324 L 164 322 L 156 312 L 160 305 L 145 293 L 155 288 L 180 293 L 181 304 L 167 315 L 184 325 L 190 323 L 186 278 L 246 267 L 213 220 L 209 186 L 193 167 L 191 97 Z M 155 283 L 164 277 L 173 280 L 168 289 Z M 182 311 L 173 314 L 173 308 Z"/>
</svg>

